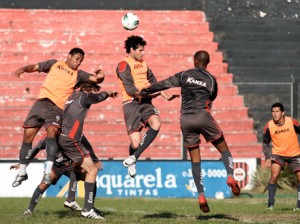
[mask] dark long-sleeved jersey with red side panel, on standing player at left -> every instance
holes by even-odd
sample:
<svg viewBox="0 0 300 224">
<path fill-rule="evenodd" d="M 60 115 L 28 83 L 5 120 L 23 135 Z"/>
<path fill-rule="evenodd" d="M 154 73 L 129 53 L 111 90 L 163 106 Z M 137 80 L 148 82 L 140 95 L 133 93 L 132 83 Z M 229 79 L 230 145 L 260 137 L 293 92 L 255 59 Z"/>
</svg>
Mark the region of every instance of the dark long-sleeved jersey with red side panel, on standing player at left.
<svg viewBox="0 0 300 224">
<path fill-rule="evenodd" d="M 62 135 L 80 141 L 84 119 L 91 104 L 99 103 L 108 98 L 107 92 L 86 93 L 74 91 L 65 103 L 63 112 Z"/>
</svg>

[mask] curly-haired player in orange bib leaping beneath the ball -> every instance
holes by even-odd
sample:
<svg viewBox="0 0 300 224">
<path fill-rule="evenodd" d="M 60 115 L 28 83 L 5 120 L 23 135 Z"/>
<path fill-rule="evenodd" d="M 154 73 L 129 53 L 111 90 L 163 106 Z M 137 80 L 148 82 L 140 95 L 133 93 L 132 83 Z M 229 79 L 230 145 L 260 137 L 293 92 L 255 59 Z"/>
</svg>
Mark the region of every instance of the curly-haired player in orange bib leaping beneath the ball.
<svg viewBox="0 0 300 224">
<path fill-rule="evenodd" d="M 132 178 L 136 175 L 136 160 L 153 142 L 161 126 L 158 111 L 153 106 L 151 97 L 162 95 L 168 101 L 178 97 L 175 94 L 168 95 L 160 92 L 149 98 L 139 98 L 138 94 L 141 89 L 156 83 L 153 72 L 143 60 L 146 44 L 147 42 L 140 36 L 128 37 L 125 41 L 128 56 L 118 64 L 116 69 L 123 100 L 125 124 L 130 139 L 130 157 L 123 161 L 123 165 L 128 167 L 128 174 Z M 149 129 L 141 138 L 144 126 L 149 126 Z"/>
</svg>

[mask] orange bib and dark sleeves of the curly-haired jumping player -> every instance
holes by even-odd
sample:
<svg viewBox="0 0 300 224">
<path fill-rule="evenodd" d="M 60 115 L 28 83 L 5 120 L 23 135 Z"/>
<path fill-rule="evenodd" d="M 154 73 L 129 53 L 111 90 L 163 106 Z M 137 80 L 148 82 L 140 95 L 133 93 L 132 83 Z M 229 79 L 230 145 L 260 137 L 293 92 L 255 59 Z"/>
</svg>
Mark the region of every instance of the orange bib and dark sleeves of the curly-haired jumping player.
<svg viewBox="0 0 300 224">
<path fill-rule="evenodd" d="M 118 82 L 123 101 L 133 99 L 133 95 L 143 88 L 147 88 L 156 79 L 145 61 L 139 62 L 130 57 L 124 58 L 117 68 Z"/>
</svg>

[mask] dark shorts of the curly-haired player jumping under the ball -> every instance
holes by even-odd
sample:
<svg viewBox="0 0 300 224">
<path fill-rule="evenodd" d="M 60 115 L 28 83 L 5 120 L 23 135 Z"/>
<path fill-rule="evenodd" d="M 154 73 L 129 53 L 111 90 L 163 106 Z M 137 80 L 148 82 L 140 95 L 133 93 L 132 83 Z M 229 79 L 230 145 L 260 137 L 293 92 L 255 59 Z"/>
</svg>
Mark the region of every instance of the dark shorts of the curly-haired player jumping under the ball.
<svg viewBox="0 0 300 224">
<path fill-rule="evenodd" d="M 152 115 L 159 116 L 149 99 L 143 99 L 141 103 L 137 100 L 123 103 L 123 113 L 128 134 L 140 131 Z"/>
</svg>

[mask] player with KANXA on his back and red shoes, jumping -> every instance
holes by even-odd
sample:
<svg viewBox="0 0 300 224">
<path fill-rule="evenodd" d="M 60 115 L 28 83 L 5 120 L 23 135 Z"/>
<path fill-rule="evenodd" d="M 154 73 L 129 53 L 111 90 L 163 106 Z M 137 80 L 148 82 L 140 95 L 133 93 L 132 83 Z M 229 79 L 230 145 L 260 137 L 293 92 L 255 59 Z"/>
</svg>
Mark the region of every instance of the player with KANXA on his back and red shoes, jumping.
<svg viewBox="0 0 300 224">
<path fill-rule="evenodd" d="M 206 67 L 210 57 L 206 51 L 198 51 L 194 54 L 194 67 L 187 71 L 179 72 L 169 78 L 143 89 L 141 96 L 162 91 L 172 87 L 181 87 L 181 115 L 180 127 L 183 135 L 184 145 L 191 157 L 191 166 L 194 182 L 198 191 L 198 201 L 203 212 L 210 209 L 203 190 L 201 175 L 200 139 L 202 134 L 207 142 L 211 142 L 221 153 L 222 160 L 227 171 L 227 185 L 234 195 L 240 194 L 240 188 L 233 178 L 233 159 L 223 132 L 210 113 L 212 102 L 216 99 L 218 85 L 215 77 L 211 75 Z"/>
</svg>

